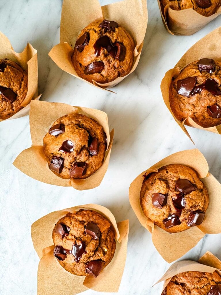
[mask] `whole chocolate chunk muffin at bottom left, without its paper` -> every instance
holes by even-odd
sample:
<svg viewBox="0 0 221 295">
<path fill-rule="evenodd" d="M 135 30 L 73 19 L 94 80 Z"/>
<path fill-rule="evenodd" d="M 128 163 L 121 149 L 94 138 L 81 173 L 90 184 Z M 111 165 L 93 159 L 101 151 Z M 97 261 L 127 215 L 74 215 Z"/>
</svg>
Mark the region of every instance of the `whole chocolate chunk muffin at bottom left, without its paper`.
<svg viewBox="0 0 221 295">
<path fill-rule="evenodd" d="M 54 227 L 54 255 L 66 271 L 97 277 L 116 249 L 110 222 L 98 212 L 80 209 L 68 213 Z"/>
</svg>

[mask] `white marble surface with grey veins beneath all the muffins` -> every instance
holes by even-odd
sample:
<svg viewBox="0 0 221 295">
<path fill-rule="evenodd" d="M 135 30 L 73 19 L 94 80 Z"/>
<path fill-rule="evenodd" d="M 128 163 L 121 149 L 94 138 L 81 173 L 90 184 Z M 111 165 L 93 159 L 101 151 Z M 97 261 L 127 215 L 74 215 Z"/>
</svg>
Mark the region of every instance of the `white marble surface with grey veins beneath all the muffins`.
<svg viewBox="0 0 221 295">
<path fill-rule="evenodd" d="M 100 2 L 104 5 L 112 1 Z M 220 26 L 221 17 L 193 36 L 174 37 L 161 22 L 157 1 L 148 0 L 149 22 L 140 63 L 114 87 L 117 94 L 112 94 L 62 72 L 48 57 L 52 46 L 59 43 L 61 6 L 61 0 L 1 0 L 0 30 L 16 51 L 22 51 L 27 41 L 38 50 L 42 100 L 97 108 L 108 114 L 110 129 L 115 129 L 110 164 L 103 182 L 93 190 L 75 191 L 35 181 L 12 165 L 31 145 L 29 117 L 1 122 L 0 294 L 36 294 L 39 259 L 32 246 L 31 224 L 49 212 L 87 203 L 108 207 L 117 221 L 130 220 L 128 256 L 119 294 L 161 294 L 161 285 L 151 286 L 169 264 L 155 250 L 151 235 L 133 213 L 128 188 L 140 172 L 161 158 L 194 147 L 205 155 L 210 172 L 221 181 L 221 136 L 188 128 L 194 146 L 175 124 L 160 92 L 164 73 L 191 45 Z M 197 260 L 206 250 L 221 258 L 220 244 L 221 235 L 206 235 L 184 258 Z M 88 290 L 85 294 L 97 292 Z"/>
</svg>

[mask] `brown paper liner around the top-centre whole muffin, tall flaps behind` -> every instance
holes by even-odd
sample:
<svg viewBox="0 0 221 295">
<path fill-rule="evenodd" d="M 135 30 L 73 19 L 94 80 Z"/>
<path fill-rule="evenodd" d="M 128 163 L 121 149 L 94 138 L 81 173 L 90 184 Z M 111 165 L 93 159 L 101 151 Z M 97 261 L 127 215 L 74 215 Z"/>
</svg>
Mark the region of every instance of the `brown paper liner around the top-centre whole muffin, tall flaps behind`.
<svg viewBox="0 0 221 295">
<path fill-rule="evenodd" d="M 63 71 L 89 84 L 91 83 L 77 75 L 72 65 L 72 48 L 74 48 L 81 30 L 91 22 L 99 19 L 101 21 L 103 19 L 115 20 L 133 37 L 135 49 L 133 53 L 134 62 L 130 71 L 132 73 L 138 65 L 146 33 L 148 19 L 146 0 L 124 0 L 105 6 L 100 6 L 98 0 L 63 1 L 60 44 L 55 45 L 48 55 Z M 109 83 L 97 83 L 93 81 L 93 85 L 99 88 L 110 88 L 121 82 L 127 76 L 118 77 Z"/>
</svg>

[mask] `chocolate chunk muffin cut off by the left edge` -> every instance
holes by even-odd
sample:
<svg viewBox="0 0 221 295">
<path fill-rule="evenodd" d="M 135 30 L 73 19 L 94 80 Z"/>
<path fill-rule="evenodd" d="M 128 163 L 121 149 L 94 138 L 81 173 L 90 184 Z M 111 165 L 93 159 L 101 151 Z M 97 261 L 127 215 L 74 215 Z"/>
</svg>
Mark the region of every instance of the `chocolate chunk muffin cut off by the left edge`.
<svg viewBox="0 0 221 295">
<path fill-rule="evenodd" d="M 0 119 L 17 113 L 28 91 L 28 74 L 7 58 L 0 59 Z"/>
</svg>

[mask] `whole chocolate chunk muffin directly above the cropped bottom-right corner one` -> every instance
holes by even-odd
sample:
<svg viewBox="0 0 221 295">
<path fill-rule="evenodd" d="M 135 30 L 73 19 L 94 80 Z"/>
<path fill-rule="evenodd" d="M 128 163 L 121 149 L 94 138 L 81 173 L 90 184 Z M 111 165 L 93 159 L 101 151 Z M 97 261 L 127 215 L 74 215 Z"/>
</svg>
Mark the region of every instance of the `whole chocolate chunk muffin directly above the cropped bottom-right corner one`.
<svg viewBox="0 0 221 295">
<path fill-rule="evenodd" d="M 140 204 L 154 224 L 167 232 L 182 232 L 202 223 L 209 195 L 193 169 L 171 164 L 144 175 Z"/>
</svg>

